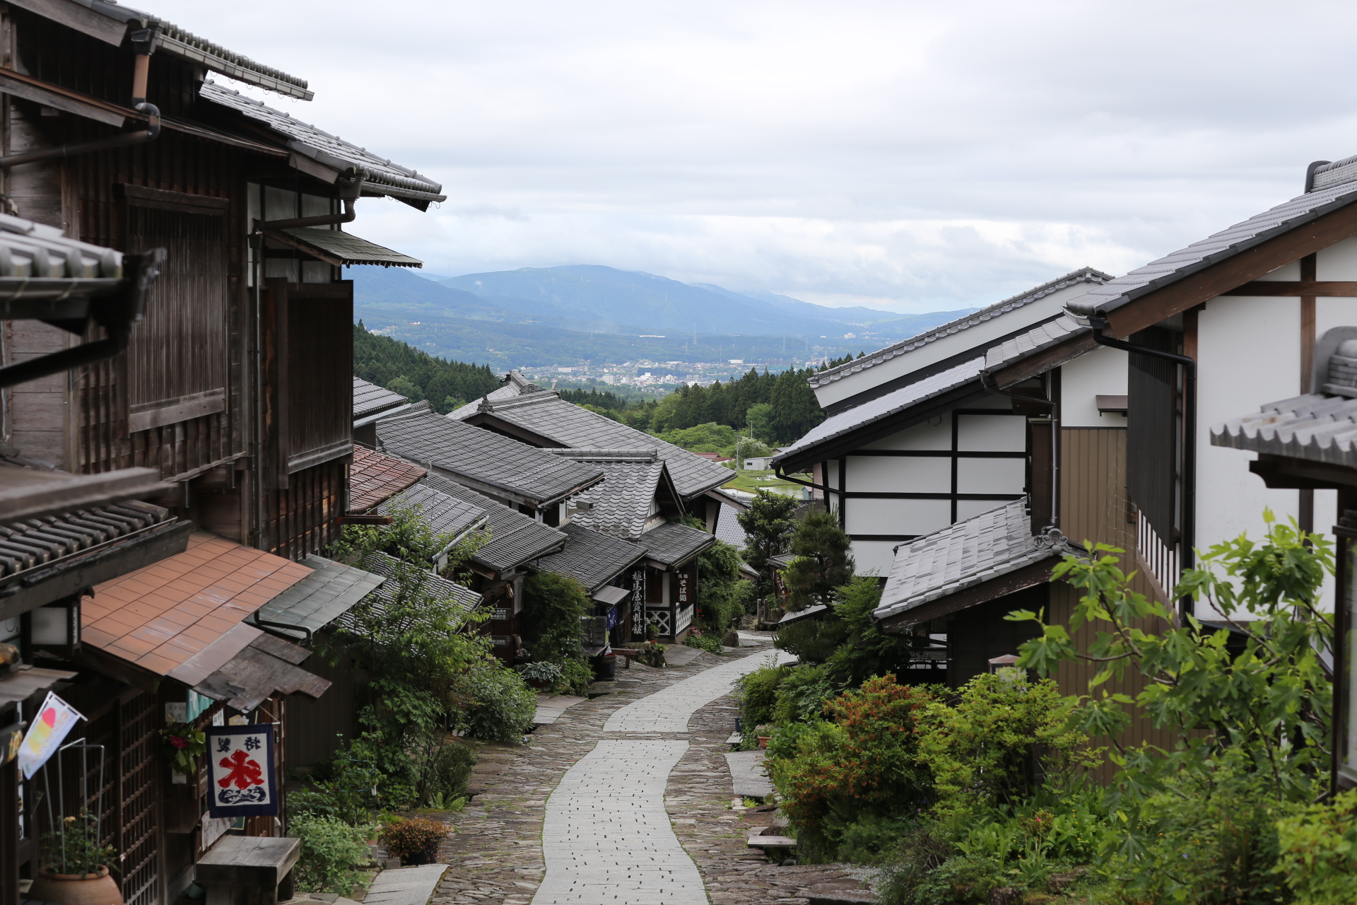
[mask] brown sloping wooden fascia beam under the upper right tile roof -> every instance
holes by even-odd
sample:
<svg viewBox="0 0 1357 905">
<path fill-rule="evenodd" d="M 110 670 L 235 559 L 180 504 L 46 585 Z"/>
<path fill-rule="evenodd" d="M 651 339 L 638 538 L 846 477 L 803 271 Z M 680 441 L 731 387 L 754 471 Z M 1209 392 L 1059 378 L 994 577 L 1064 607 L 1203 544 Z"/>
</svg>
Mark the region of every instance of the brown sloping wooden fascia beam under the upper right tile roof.
<svg viewBox="0 0 1357 905">
<path fill-rule="evenodd" d="M 1349 202 L 1107 312 L 1111 335 L 1126 338 L 1353 235 L 1357 235 L 1357 204 Z M 1285 284 L 1277 281 L 1277 285 Z M 1274 292 L 1269 286 L 1269 293 Z"/>
</svg>

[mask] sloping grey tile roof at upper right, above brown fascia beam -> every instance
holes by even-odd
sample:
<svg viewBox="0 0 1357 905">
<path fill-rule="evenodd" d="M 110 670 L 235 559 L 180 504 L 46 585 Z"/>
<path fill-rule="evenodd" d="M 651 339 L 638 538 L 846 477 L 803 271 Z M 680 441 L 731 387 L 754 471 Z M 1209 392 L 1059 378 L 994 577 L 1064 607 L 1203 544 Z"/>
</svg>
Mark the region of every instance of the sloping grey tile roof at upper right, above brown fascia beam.
<svg viewBox="0 0 1357 905">
<path fill-rule="evenodd" d="M 1342 161 L 1341 161 L 1342 163 Z M 1337 172 L 1337 171 L 1335 171 Z M 1345 171 L 1346 172 L 1346 171 Z M 1348 172 L 1348 176 L 1353 174 Z M 1335 176 L 1337 179 L 1337 176 Z M 1316 179 L 1318 183 L 1318 179 Z M 1167 286 L 1213 263 L 1225 261 L 1274 236 L 1303 227 L 1312 220 L 1357 201 L 1357 183 L 1334 182 L 1310 194 L 1299 195 L 1248 220 L 1194 242 L 1186 248 L 1151 261 L 1143 267 L 1096 286 L 1065 305 L 1076 315 L 1096 315 Z"/>
</svg>

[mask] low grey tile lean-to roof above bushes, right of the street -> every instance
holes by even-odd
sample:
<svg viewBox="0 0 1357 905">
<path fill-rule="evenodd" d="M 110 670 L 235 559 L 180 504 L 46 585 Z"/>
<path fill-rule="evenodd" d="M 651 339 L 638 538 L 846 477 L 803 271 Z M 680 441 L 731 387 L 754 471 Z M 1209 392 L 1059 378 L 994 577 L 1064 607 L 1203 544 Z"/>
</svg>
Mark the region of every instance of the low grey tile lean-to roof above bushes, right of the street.
<svg viewBox="0 0 1357 905">
<path fill-rule="evenodd" d="M 924 535 L 896 550 L 873 619 L 955 594 L 1049 556 L 1080 550 L 1064 535 L 1033 537 L 1027 498 Z"/>
</svg>

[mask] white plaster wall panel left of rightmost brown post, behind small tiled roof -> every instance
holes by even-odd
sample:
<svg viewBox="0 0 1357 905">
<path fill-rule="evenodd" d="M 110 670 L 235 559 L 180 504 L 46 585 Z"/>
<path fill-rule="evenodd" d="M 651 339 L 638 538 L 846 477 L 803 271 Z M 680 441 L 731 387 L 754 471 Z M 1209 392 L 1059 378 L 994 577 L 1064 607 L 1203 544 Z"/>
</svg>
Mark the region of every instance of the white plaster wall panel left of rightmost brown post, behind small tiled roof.
<svg viewBox="0 0 1357 905">
<path fill-rule="evenodd" d="M 1205 550 L 1244 532 L 1261 537 L 1263 507 L 1280 520 L 1297 514 L 1297 493 L 1265 487 L 1248 471 L 1254 453 L 1212 446 L 1210 426 L 1300 392 L 1300 300 L 1221 296 L 1197 324 L 1196 544 Z"/>
</svg>

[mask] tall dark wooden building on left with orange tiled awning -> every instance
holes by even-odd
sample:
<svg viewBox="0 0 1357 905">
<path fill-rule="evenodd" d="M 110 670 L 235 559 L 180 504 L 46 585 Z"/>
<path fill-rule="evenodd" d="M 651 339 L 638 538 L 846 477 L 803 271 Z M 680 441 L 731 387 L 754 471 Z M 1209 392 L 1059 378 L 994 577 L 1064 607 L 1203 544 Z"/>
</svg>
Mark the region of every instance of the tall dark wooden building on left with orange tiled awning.
<svg viewBox="0 0 1357 905">
<path fill-rule="evenodd" d="M 209 73 L 311 99 L 303 80 L 128 7 L 0 8 L 7 213 L 111 255 L 68 256 L 85 275 L 111 275 L 99 271 L 118 252 L 164 251 L 130 336 L 109 319 L 0 312 L 0 368 L 125 343 L 0 391 L 8 461 L 66 475 L 53 480 L 68 501 L 79 486 L 110 491 L 109 505 L 91 491 L 80 512 L 9 529 L 0 582 L 19 593 L 0 625 L 24 672 L 62 674 L 54 687 L 90 720 L 80 731 L 103 745 L 104 832 L 134 905 L 175 901 L 223 833 L 284 829 L 204 818 L 201 777 L 172 782 L 157 730 L 170 718 L 271 722 L 285 752 L 288 699 L 328 684 L 299 668 L 303 647 L 242 620 L 316 571 L 299 560 L 349 512 L 353 290 L 341 269 L 419 263 L 343 224 L 362 198 L 442 199 L 419 174 Z M 142 502 L 115 502 L 128 497 Z M 0 773 L 0 799 L 23 792 L 28 810 L 22 839 L 0 829 L 0 905 L 39 867 L 34 790 L 12 780 Z"/>
</svg>

